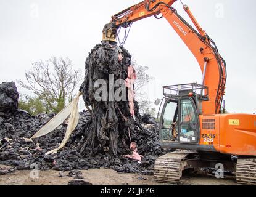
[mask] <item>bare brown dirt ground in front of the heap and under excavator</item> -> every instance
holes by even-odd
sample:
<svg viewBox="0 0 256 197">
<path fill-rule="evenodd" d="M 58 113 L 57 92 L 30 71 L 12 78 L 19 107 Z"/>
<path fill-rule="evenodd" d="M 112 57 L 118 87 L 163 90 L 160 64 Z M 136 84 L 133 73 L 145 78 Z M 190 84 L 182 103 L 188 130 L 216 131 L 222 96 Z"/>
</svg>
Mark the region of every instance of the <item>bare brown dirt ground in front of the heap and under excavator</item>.
<svg viewBox="0 0 256 197">
<path fill-rule="evenodd" d="M 7 168 L 7 166 L 1 166 Z M 139 174 L 120 174 L 110 169 L 89 169 L 83 172 L 85 181 L 93 185 L 166 185 L 154 181 L 153 176 Z M 39 171 L 39 179 L 30 178 L 31 171 L 16 171 L 0 176 L 0 185 L 67 185 L 72 177 L 59 177 L 59 171 Z M 186 185 L 234 185 L 234 177 L 216 179 L 211 175 L 184 175 L 183 184 Z"/>
</svg>

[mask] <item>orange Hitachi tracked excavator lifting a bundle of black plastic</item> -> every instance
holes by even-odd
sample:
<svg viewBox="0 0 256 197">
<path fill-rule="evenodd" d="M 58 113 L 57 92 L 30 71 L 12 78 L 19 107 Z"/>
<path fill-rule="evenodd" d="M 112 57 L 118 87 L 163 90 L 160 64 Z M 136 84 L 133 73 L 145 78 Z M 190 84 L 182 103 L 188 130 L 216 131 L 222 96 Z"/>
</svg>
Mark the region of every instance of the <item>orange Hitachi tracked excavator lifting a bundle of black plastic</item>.
<svg viewBox="0 0 256 197">
<path fill-rule="evenodd" d="M 234 172 L 237 183 L 256 184 L 256 115 L 225 114 L 225 60 L 188 6 L 183 5 L 196 29 L 171 7 L 175 1 L 142 1 L 112 16 L 103 30 L 103 41 L 116 42 L 120 28 L 151 16 L 165 18 L 202 70 L 202 84 L 163 87 L 160 143 L 176 151 L 155 161 L 155 180 L 181 183 L 186 169 L 215 168 Z"/>
</svg>

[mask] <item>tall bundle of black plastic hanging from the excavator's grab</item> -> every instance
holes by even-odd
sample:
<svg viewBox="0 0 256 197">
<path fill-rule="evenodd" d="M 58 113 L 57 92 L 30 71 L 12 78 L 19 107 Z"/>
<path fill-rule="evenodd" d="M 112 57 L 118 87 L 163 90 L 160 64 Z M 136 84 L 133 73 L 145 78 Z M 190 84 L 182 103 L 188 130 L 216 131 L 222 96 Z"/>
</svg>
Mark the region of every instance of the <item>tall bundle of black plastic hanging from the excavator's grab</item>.
<svg viewBox="0 0 256 197">
<path fill-rule="evenodd" d="M 120 60 L 120 55 L 122 55 L 122 60 Z M 89 136 L 81 147 L 82 151 L 85 149 L 93 152 L 109 150 L 112 155 L 120 155 L 123 149 L 122 143 L 131 143 L 129 132 L 131 134 L 135 132 L 135 121 L 130 113 L 128 89 L 124 82 L 128 78 L 128 66 L 130 65 L 129 52 L 124 47 L 118 47 L 109 42 L 97 44 L 86 58 L 85 81 L 81 90 L 83 90 L 85 104 L 93 107 L 93 123 L 89 129 Z M 113 81 L 110 81 L 109 76 L 112 76 Z M 104 101 L 97 101 L 95 97 L 95 92 L 99 89 L 95 85 L 99 79 L 107 83 L 107 100 Z M 116 101 L 109 95 L 120 90 L 120 86 L 114 87 L 115 82 L 120 79 L 125 87 L 126 100 Z M 112 88 L 110 88 L 111 84 Z M 139 121 L 138 103 L 135 100 L 133 102 L 134 114 Z"/>
</svg>

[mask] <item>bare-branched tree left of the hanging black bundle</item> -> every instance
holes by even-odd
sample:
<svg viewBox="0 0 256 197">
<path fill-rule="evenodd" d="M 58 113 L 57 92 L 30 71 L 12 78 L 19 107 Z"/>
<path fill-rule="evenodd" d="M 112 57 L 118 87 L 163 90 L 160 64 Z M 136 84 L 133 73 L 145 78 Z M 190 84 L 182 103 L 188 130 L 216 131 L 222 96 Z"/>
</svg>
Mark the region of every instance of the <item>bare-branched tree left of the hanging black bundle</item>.
<svg viewBox="0 0 256 197">
<path fill-rule="evenodd" d="M 33 69 L 25 73 L 27 84 L 18 81 L 25 89 L 33 91 L 47 103 L 53 112 L 58 113 L 71 102 L 74 90 L 81 82 L 80 70 L 73 70 L 71 60 L 52 57 L 44 63 L 33 63 Z"/>
</svg>

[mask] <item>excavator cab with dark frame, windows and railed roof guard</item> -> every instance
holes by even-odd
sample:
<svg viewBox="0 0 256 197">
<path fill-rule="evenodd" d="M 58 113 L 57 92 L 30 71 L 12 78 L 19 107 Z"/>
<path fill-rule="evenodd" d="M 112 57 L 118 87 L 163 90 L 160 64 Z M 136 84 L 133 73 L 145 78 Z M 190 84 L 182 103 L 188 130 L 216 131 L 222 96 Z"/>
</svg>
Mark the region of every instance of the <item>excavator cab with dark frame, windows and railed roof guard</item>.
<svg viewBox="0 0 256 197">
<path fill-rule="evenodd" d="M 202 113 L 202 102 L 208 99 L 207 92 L 207 87 L 199 84 L 163 87 L 165 102 L 162 102 L 159 135 L 165 146 L 176 148 L 199 143 L 199 115 Z"/>
</svg>

